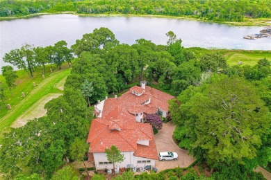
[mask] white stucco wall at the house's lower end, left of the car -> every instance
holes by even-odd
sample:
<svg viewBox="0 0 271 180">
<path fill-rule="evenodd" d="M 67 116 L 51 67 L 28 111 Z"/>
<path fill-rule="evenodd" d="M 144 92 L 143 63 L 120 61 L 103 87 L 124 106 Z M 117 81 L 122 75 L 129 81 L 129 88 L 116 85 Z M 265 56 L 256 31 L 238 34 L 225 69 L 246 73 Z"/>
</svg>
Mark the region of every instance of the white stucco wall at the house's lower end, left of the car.
<svg viewBox="0 0 271 180">
<path fill-rule="evenodd" d="M 127 165 L 131 165 L 131 167 L 144 168 L 145 165 L 155 165 L 155 160 L 147 159 L 143 157 L 133 156 L 133 152 L 122 152 L 124 154 L 124 161 L 121 163 L 115 163 L 115 168 L 127 168 Z M 104 170 L 105 168 L 113 169 L 112 165 L 99 165 L 99 162 L 108 162 L 106 158 L 106 153 L 104 152 L 95 152 L 93 153 L 95 160 L 95 168 L 97 170 Z M 151 161 L 150 163 L 138 163 L 138 161 Z"/>
</svg>

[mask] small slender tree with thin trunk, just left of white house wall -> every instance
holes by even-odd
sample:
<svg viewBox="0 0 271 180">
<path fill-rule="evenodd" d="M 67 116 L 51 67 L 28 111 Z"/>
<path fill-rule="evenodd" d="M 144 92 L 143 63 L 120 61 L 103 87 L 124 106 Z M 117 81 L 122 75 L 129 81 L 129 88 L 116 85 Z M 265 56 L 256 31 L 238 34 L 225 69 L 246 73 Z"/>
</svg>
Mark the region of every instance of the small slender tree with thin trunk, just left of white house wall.
<svg viewBox="0 0 271 180">
<path fill-rule="evenodd" d="M 76 161 L 83 161 L 85 172 L 88 174 L 88 169 L 84 161 L 85 153 L 88 152 L 88 143 L 85 142 L 85 139 L 75 138 L 70 150 L 71 158 Z M 88 174 L 88 179 L 90 179 L 90 174 Z"/>
</svg>

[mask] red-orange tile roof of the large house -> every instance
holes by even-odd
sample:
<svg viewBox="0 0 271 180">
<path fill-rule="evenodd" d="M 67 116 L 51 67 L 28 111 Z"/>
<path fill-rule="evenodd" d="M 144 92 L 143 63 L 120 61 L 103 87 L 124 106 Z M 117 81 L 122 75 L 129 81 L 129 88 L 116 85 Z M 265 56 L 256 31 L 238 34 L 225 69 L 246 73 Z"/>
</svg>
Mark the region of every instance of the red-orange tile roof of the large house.
<svg viewBox="0 0 271 180">
<path fill-rule="evenodd" d="M 142 92 L 142 95 L 136 96 L 131 91 Z M 151 87 L 135 86 L 119 98 L 106 99 L 101 118 L 92 120 L 88 134 L 90 152 L 104 152 L 115 145 L 122 152 L 131 151 L 135 156 L 158 159 L 151 125 L 136 122 L 134 114 L 155 114 L 158 109 L 168 111 L 167 100 L 173 98 Z M 138 144 L 141 140 L 149 140 L 149 146 Z"/>
</svg>

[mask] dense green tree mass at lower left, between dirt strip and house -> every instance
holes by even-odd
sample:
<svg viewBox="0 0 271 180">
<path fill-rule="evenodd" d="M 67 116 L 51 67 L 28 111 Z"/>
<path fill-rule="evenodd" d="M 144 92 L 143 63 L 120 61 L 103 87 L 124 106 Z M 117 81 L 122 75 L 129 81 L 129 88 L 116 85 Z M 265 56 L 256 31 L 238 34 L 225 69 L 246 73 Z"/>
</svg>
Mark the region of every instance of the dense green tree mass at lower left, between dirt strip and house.
<svg viewBox="0 0 271 180">
<path fill-rule="evenodd" d="M 7 177 L 12 179 L 23 171 L 45 172 L 49 178 L 56 168 L 63 165 L 64 157 L 70 157 L 70 152 L 76 151 L 76 143 L 81 141 L 74 139 L 86 138 L 91 116 L 80 91 L 67 89 L 63 96 L 49 101 L 45 108 L 46 117 L 12 129 L 3 138 L 0 170 Z"/>
</svg>

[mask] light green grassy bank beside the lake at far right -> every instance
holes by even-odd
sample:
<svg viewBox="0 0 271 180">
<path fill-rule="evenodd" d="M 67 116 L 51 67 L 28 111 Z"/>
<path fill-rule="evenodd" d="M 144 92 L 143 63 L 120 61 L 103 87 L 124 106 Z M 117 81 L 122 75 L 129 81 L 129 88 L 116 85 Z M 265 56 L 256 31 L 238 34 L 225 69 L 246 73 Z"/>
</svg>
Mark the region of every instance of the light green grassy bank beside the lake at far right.
<svg viewBox="0 0 271 180">
<path fill-rule="evenodd" d="M 197 58 L 201 58 L 206 53 L 220 53 L 223 55 L 227 64 L 230 66 L 238 65 L 238 62 L 243 62 L 241 66 L 254 66 L 258 60 L 266 58 L 271 61 L 271 51 L 246 51 L 246 50 L 228 50 L 228 49 L 206 49 L 206 48 L 189 48 L 195 53 Z"/>
</svg>

